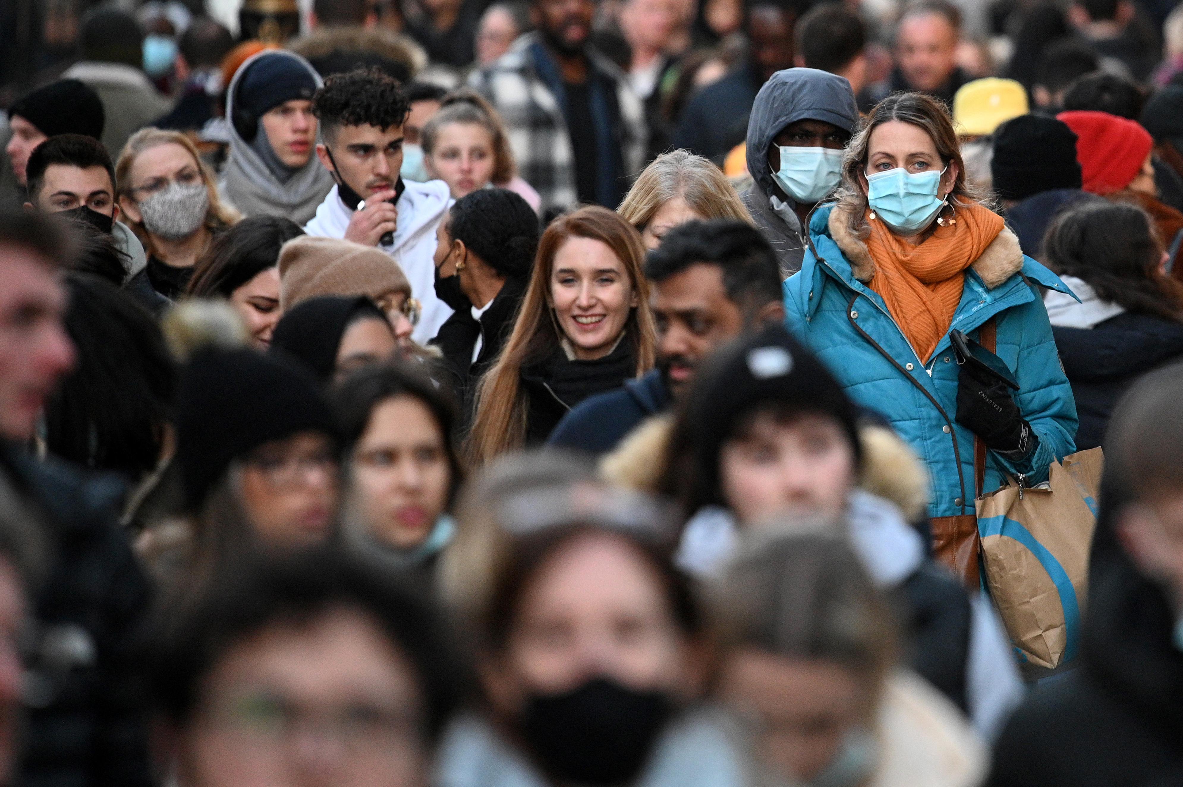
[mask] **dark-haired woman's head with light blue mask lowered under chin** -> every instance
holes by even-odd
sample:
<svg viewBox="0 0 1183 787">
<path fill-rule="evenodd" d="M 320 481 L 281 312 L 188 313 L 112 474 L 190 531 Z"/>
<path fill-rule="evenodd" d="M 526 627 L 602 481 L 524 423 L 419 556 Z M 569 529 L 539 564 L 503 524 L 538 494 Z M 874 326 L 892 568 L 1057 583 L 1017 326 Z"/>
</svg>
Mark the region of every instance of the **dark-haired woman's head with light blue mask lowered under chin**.
<svg viewBox="0 0 1183 787">
<path fill-rule="evenodd" d="M 455 534 L 452 501 L 463 481 L 453 402 L 420 369 L 381 365 L 350 375 L 334 404 L 345 449 L 345 542 L 431 586 Z"/>
</svg>

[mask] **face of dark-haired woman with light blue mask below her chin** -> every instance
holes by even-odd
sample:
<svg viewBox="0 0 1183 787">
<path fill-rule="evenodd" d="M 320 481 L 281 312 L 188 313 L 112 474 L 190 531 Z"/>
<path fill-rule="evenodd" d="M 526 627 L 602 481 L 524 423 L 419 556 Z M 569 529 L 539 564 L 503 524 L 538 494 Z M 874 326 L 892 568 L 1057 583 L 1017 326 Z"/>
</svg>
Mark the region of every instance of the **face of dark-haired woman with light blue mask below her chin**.
<svg viewBox="0 0 1183 787">
<path fill-rule="evenodd" d="M 413 549 L 432 533 L 452 483 L 445 436 L 432 411 L 412 396 L 381 402 L 354 449 L 354 492 L 370 533 Z"/>
</svg>

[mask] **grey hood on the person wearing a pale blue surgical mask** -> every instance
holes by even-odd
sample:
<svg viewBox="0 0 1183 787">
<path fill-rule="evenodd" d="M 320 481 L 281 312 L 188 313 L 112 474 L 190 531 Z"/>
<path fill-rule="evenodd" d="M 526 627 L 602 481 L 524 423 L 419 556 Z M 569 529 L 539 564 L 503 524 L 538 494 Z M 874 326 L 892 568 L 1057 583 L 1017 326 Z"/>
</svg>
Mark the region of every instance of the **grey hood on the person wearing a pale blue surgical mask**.
<svg viewBox="0 0 1183 787">
<path fill-rule="evenodd" d="M 816 69 L 777 71 L 756 93 L 748 121 L 748 171 L 765 197 L 787 197 L 775 187 L 768 165 L 772 139 L 789 123 L 822 121 L 854 132 L 859 106 L 845 77 Z M 791 197 L 787 197 L 790 207 Z"/>
</svg>

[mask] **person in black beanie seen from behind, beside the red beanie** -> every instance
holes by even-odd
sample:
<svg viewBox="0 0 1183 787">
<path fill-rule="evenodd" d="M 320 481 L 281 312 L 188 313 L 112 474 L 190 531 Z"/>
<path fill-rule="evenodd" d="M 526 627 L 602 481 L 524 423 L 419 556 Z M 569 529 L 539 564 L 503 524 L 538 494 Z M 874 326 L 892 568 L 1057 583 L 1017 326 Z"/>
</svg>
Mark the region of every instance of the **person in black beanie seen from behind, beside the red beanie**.
<svg viewBox="0 0 1183 787">
<path fill-rule="evenodd" d="M 1077 135 L 1062 121 L 1023 115 L 994 134 L 990 181 L 1023 254 L 1041 258 L 1043 235 L 1059 213 L 1088 197 L 1081 190 Z"/>
</svg>

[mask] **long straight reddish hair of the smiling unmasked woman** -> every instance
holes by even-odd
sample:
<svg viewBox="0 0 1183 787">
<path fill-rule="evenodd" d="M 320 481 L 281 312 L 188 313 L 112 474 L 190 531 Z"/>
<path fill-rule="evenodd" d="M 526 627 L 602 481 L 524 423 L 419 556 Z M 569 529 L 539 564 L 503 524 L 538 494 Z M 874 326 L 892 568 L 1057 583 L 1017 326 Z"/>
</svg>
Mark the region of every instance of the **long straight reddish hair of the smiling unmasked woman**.
<svg viewBox="0 0 1183 787">
<path fill-rule="evenodd" d="M 550 277 L 555 255 L 570 238 L 588 238 L 605 243 L 623 265 L 638 304 L 625 323 L 625 340 L 633 345 L 638 377 L 653 368 L 657 326 L 649 311 L 649 285 L 642 269 L 645 247 L 640 235 L 632 225 L 607 208 L 593 206 L 560 216 L 538 242 L 538 255 L 513 332 L 497 363 L 477 388 L 477 412 L 466 450 L 472 467 L 525 443 L 529 402 L 522 391 L 522 369 L 548 358 L 562 342 L 550 313 Z"/>
</svg>

